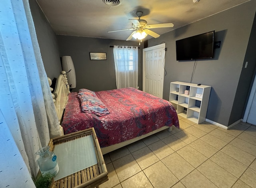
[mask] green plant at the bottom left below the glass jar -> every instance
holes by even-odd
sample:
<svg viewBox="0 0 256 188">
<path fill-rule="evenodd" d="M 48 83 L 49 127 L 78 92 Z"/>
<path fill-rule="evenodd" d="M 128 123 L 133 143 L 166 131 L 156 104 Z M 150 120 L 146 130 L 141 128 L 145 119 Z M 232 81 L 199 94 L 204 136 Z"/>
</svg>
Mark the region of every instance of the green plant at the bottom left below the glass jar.
<svg viewBox="0 0 256 188">
<path fill-rule="evenodd" d="M 38 174 L 36 178 L 33 178 L 36 188 L 49 188 L 54 178 L 54 174 L 48 172 L 46 174 Z"/>
</svg>

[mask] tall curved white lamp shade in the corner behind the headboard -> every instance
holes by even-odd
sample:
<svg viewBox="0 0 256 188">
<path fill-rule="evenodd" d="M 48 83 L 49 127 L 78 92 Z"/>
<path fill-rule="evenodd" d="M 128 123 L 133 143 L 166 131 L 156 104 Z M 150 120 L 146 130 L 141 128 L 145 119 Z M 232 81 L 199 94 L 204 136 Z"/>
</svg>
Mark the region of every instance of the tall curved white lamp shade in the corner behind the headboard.
<svg viewBox="0 0 256 188">
<path fill-rule="evenodd" d="M 76 71 L 71 56 L 62 56 L 62 69 L 66 71 L 69 87 L 76 88 Z"/>
</svg>

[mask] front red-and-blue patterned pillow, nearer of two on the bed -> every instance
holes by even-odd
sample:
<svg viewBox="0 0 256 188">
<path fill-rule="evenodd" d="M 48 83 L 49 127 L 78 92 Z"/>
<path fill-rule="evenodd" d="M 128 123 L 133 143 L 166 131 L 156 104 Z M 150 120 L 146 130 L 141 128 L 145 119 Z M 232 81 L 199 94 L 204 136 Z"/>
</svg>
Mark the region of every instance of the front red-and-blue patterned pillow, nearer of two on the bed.
<svg viewBox="0 0 256 188">
<path fill-rule="evenodd" d="M 78 97 L 81 101 L 82 111 L 92 113 L 97 116 L 104 116 L 110 113 L 106 105 L 104 105 L 97 96 L 78 95 Z"/>
</svg>

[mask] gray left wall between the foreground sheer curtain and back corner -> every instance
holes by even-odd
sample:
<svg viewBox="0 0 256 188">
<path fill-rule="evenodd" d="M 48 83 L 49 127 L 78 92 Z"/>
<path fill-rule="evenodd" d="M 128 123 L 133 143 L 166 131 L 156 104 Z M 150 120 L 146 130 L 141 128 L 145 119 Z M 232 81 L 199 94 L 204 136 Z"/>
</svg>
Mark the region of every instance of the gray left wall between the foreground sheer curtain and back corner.
<svg viewBox="0 0 256 188">
<path fill-rule="evenodd" d="M 58 78 L 62 68 L 56 34 L 52 30 L 52 26 L 50 26 L 48 20 L 46 20 L 36 0 L 29 0 L 29 5 L 36 28 L 36 36 L 42 60 L 44 62 L 44 69 L 47 76 L 51 79 L 54 77 Z"/>
</svg>

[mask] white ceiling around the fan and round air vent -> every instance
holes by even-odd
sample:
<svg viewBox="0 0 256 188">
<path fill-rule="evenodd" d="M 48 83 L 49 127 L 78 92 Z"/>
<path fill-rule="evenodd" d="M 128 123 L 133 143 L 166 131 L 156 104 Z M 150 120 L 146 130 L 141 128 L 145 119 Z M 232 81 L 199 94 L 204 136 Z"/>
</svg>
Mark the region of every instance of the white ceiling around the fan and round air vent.
<svg viewBox="0 0 256 188">
<path fill-rule="evenodd" d="M 173 28 L 155 28 L 164 34 L 250 0 L 36 0 L 56 34 L 126 40 L 133 31 L 128 19 L 142 11 L 148 24 L 172 22 Z M 109 6 L 104 2 L 117 2 Z M 147 36 L 147 39 L 152 38 Z"/>
</svg>

